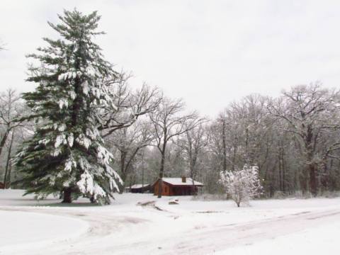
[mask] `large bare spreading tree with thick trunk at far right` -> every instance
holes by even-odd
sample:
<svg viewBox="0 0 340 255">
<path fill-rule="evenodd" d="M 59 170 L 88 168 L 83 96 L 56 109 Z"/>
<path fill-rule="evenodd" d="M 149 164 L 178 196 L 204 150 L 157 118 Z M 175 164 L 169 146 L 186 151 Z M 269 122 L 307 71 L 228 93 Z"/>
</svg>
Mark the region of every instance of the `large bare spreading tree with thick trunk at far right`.
<svg viewBox="0 0 340 255">
<path fill-rule="evenodd" d="M 268 110 L 276 118 L 288 123 L 285 132 L 294 135 L 300 144 L 300 152 L 305 162 L 302 171 L 301 186 L 304 191 L 317 194 L 317 176 L 319 171 L 319 145 L 325 132 L 339 130 L 339 91 L 322 89 L 321 84 L 300 85 L 290 91 L 283 91 L 283 99 L 272 102 Z M 339 148 L 338 139 L 326 149 L 325 157 L 330 151 Z"/>
</svg>

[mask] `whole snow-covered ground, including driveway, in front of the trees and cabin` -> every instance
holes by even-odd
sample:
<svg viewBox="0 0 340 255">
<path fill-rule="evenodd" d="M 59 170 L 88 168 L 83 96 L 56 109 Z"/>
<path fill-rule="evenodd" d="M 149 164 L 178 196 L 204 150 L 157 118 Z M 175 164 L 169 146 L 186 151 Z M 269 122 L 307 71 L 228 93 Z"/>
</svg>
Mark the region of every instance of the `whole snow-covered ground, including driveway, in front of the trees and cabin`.
<svg viewBox="0 0 340 255">
<path fill-rule="evenodd" d="M 198 201 L 117 195 L 112 205 L 0 191 L 0 254 L 340 254 L 340 198 Z M 152 203 L 155 201 L 155 203 Z M 140 205 L 145 204 L 145 205 Z"/>
</svg>

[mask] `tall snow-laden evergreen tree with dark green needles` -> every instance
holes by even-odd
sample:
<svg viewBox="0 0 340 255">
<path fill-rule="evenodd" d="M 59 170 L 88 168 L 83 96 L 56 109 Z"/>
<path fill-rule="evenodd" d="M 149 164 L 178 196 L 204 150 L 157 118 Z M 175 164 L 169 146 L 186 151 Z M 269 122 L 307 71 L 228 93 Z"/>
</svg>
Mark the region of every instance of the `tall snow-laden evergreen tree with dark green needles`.
<svg viewBox="0 0 340 255">
<path fill-rule="evenodd" d="M 23 95 L 32 110 L 35 135 L 18 153 L 16 165 L 25 173 L 26 193 L 45 197 L 63 192 L 64 203 L 86 196 L 110 203 L 118 189 L 118 174 L 111 168 L 112 154 L 103 146 L 98 127 L 103 108 L 114 108 L 106 79 L 118 78 L 94 43 L 100 16 L 64 11 L 61 23 L 49 25 L 60 39 L 44 38 L 47 47 L 29 55 L 40 62 L 30 67 L 28 81 L 37 89 Z"/>
</svg>

